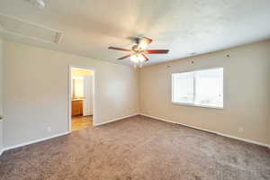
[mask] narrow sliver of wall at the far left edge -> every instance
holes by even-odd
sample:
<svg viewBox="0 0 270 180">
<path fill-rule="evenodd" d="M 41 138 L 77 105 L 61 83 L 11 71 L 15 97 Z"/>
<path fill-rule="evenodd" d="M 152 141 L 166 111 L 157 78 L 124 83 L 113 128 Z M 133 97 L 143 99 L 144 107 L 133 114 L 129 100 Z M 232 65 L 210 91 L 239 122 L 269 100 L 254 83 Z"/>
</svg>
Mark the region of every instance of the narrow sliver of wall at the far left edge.
<svg viewBox="0 0 270 180">
<path fill-rule="evenodd" d="M 3 115 L 3 39 L 0 36 L 0 115 Z M 3 120 L 0 120 L 0 153 L 3 148 Z"/>
</svg>

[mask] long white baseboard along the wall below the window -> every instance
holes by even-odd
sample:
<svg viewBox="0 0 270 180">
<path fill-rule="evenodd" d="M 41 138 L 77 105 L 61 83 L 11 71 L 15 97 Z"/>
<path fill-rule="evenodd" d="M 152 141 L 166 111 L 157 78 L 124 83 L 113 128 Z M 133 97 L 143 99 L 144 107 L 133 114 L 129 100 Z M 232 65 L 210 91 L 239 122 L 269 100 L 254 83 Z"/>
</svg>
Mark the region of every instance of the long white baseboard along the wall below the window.
<svg viewBox="0 0 270 180">
<path fill-rule="evenodd" d="M 187 124 L 184 124 L 184 123 L 181 123 L 181 122 L 170 121 L 170 120 L 166 120 L 166 119 L 163 119 L 163 118 L 158 118 L 156 116 L 151 116 L 151 115 L 148 115 L 148 114 L 145 114 L 145 113 L 139 113 L 139 114 L 140 115 L 143 115 L 143 116 L 146 116 L 146 117 L 149 117 L 149 118 L 156 119 L 156 120 L 166 121 L 166 122 L 170 122 L 170 123 L 175 123 L 175 124 L 183 125 L 183 126 L 186 126 L 186 127 L 189 127 L 189 128 L 196 129 L 196 130 L 203 130 L 203 131 L 207 131 L 207 132 L 210 132 L 210 133 L 214 133 L 214 134 L 217 134 L 217 135 L 220 135 L 220 136 L 223 136 L 223 137 L 227 137 L 227 138 L 230 138 L 230 139 L 238 139 L 238 140 L 241 140 L 241 141 L 245 141 L 245 142 L 249 142 L 249 143 L 252 143 L 252 144 L 257 144 L 259 146 L 264 146 L 266 148 L 270 148 L 270 145 L 269 144 L 264 144 L 264 143 L 261 143 L 261 142 L 257 142 L 255 140 L 238 138 L 238 137 L 235 137 L 235 136 L 230 136 L 228 134 L 223 134 L 223 133 L 220 133 L 220 132 L 217 132 L 217 131 L 213 131 L 213 130 L 205 130 L 205 129 L 197 128 L 197 127 L 194 127 L 194 126 L 191 126 L 191 125 L 187 125 Z"/>
</svg>

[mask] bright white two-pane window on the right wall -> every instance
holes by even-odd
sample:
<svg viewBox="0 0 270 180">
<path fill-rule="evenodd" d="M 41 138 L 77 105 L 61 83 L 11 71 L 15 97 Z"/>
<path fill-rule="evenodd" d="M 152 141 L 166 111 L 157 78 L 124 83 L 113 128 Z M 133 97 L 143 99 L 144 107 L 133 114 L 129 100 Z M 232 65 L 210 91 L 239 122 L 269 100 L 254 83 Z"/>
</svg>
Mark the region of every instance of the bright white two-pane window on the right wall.
<svg viewBox="0 0 270 180">
<path fill-rule="evenodd" d="M 223 68 L 173 73 L 172 102 L 223 108 Z"/>
</svg>

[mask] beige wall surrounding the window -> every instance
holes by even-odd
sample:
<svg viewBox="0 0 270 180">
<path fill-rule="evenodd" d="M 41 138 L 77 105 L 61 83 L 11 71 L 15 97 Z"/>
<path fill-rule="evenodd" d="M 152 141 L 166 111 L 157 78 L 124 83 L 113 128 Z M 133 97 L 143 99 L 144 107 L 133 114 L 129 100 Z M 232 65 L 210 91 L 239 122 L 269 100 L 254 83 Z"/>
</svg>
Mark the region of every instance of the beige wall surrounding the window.
<svg viewBox="0 0 270 180">
<path fill-rule="evenodd" d="M 223 110 L 171 103 L 171 73 L 211 67 L 224 67 Z M 270 144 L 270 40 L 143 67 L 139 75 L 140 112 Z"/>
</svg>

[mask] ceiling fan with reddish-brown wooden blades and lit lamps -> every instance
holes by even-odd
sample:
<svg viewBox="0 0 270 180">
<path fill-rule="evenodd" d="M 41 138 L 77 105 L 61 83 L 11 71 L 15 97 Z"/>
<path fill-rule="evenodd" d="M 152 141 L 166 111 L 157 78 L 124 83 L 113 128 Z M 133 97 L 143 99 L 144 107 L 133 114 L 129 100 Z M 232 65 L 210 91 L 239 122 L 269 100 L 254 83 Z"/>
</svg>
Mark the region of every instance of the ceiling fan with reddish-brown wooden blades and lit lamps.
<svg viewBox="0 0 270 180">
<path fill-rule="evenodd" d="M 148 61 L 148 57 L 146 54 L 166 54 L 168 53 L 168 49 L 146 49 L 148 47 L 148 44 L 150 44 L 153 40 L 143 37 L 143 38 L 135 38 L 135 45 L 132 46 L 132 49 L 122 49 L 122 48 L 116 48 L 110 46 L 108 49 L 114 49 L 114 50 L 123 50 L 130 52 L 129 55 L 117 58 L 118 60 L 124 59 L 124 58 L 130 58 L 132 62 L 139 63 L 140 66 L 143 62 Z"/>
</svg>

